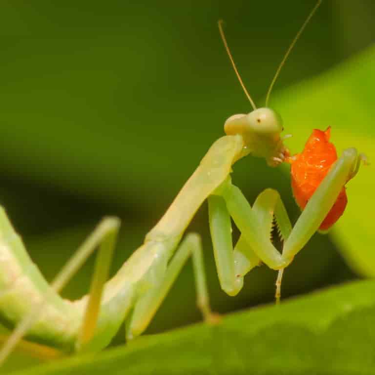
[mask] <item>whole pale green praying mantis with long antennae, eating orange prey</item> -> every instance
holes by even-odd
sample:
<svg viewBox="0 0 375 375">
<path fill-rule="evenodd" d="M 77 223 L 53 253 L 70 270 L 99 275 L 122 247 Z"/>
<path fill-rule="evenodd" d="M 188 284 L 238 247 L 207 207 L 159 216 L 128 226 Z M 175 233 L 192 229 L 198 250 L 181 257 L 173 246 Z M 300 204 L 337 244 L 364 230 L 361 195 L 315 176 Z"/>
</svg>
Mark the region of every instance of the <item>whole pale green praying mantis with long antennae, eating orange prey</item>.
<svg viewBox="0 0 375 375">
<path fill-rule="evenodd" d="M 266 105 L 281 67 L 320 3 L 321 0 L 312 9 L 278 67 Z M 197 305 L 206 321 L 216 322 L 217 315 L 209 306 L 200 237 L 195 233 L 184 237 L 188 224 L 206 199 L 223 291 L 236 295 L 243 287 L 244 276 L 262 262 L 279 271 L 276 300 L 280 299 L 283 270 L 319 228 L 342 187 L 357 173 L 363 158 L 354 148 L 346 149 L 293 228 L 277 191 L 264 190 L 251 207 L 231 182 L 232 165 L 251 154 L 275 167 L 289 155 L 289 150 L 281 137 L 280 117 L 267 106 L 255 106 L 237 72 L 220 21 L 219 29 L 253 110 L 249 114 L 233 115 L 226 121 L 226 135 L 209 148 L 167 212 L 114 277 L 106 281 L 119 219 L 104 218 L 49 285 L 28 256 L 5 210 L 0 208 L 0 315 L 7 324 L 16 326 L 0 351 L 0 363 L 17 345 L 22 345 L 25 335 L 29 340 L 67 353 L 99 351 L 126 321 L 126 338 L 133 339 L 146 330 L 189 256 L 193 259 Z M 231 218 L 241 232 L 234 247 Z M 270 239 L 273 221 L 284 241 L 282 253 Z M 59 292 L 97 247 L 100 249 L 89 294 L 76 301 L 63 299 Z M 42 347 L 40 350 L 42 353 Z"/>
</svg>

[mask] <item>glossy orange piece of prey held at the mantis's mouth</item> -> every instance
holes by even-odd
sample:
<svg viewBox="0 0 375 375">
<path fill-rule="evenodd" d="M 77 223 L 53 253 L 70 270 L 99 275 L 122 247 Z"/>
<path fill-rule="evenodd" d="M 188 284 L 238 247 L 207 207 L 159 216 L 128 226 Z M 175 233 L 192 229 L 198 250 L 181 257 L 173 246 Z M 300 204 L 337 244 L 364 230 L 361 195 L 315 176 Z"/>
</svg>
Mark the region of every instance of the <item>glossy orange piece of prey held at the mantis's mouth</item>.
<svg viewBox="0 0 375 375">
<path fill-rule="evenodd" d="M 292 164 L 293 195 L 302 210 L 327 175 L 331 165 L 337 160 L 336 148 L 330 142 L 330 135 L 331 127 L 325 131 L 314 129 L 303 151 L 289 158 Z M 343 214 L 347 202 L 348 198 L 343 187 L 319 229 L 327 230 L 332 227 Z"/>
</svg>

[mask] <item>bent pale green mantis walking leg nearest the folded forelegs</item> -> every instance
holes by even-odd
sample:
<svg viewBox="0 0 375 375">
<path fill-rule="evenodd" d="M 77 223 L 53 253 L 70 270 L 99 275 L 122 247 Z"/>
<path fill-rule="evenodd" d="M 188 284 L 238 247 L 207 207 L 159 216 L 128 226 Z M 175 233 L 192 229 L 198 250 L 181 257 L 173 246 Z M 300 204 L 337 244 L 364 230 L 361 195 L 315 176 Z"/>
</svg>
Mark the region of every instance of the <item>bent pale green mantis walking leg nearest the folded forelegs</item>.
<svg viewBox="0 0 375 375">
<path fill-rule="evenodd" d="M 216 315 L 211 312 L 209 306 L 201 240 L 198 234 L 189 233 L 168 265 L 162 259 L 159 266 L 153 270 L 153 285 L 144 294 L 140 295 L 127 324 L 126 338 L 128 340 L 146 330 L 190 255 L 192 255 L 193 260 L 197 306 L 206 321 L 215 322 L 217 320 Z"/>
</svg>

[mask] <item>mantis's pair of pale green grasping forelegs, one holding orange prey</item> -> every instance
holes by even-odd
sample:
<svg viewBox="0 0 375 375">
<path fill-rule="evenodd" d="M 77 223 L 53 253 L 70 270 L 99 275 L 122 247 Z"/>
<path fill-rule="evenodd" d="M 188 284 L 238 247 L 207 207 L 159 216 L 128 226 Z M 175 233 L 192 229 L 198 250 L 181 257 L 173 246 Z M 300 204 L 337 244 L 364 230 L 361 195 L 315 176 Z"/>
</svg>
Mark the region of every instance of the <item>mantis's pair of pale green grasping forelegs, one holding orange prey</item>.
<svg viewBox="0 0 375 375">
<path fill-rule="evenodd" d="M 209 197 L 210 229 L 222 289 L 229 295 L 237 294 L 242 288 L 243 276 L 259 261 L 280 270 L 280 285 L 282 270 L 318 230 L 342 187 L 356 174 L 362 159 L 363 156 L 358 155 L 354 148 L 343 152 L 312 195 L 293 229 L 277 191 L 266 189 L 251 208 L 241 190 L 227 179 Z M 234 251 L 230 216 L 241 232 Z M 270 240 L 273 218 L 284 240 L 281 254 Z M 280 286 L 276 292 L 277 299 L 279 294 Z"/>
</svg>

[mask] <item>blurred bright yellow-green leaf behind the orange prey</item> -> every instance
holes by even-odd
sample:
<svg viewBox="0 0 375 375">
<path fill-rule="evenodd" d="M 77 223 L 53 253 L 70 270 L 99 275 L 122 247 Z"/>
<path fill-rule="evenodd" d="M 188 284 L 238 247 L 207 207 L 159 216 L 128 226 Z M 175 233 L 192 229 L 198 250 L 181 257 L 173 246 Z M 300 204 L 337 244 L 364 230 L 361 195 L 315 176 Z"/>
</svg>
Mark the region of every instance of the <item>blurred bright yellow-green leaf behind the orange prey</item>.
<svg viewBox="0 0 375 375">
<path fill-rule="evenodd" d="M 304 83 L 281 92 L 271 100 L 283 114 L 288 144 L 302 150 L 312 128 L 332 126 L 331 141 L 338 154 L 356 147 L 368 156 L 348 183 L 348 206 L 333 227 L 333 238 L 348 264 L 357 272 L 375 276 L 375 48 Z"/>
</svg>

